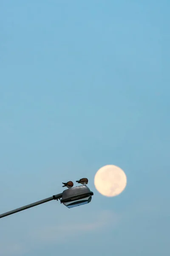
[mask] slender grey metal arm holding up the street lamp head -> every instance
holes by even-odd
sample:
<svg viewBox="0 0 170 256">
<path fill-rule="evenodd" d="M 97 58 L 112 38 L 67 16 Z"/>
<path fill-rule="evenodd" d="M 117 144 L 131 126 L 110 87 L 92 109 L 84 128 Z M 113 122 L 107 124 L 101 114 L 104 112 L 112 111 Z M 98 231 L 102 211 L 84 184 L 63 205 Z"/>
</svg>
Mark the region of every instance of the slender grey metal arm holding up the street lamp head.
<svg viewBox="0 0 170 256">
<path fill-rule="evenodd" d="M 11 215 L 11 214 L 16 213 L 16 212 L 20 212 L 20 211 L 26 210 L 28 208 L 34 207 L 34 206 L 39 205 L 39 204 L 46 203 L 46 202 L 51 201 L 51 200 L 58 200 L 60 198 L 62 198 L 62 193 L 57 194 L 57 195 L 53 195 L 53 196 L 51 196 L 49 198 L 42 199 L 42 200 L 37 201 L 37 202 L 32 203 L 32 204 L 27 204 L 27 205 L 25 205 L 23 207 L 14 209 L 14 210 L 12 210 L 10 212 L 5 212 L 3 214 L 0 214 L 0 218 L 6 217 L 6 216 Z"/>
</svg>

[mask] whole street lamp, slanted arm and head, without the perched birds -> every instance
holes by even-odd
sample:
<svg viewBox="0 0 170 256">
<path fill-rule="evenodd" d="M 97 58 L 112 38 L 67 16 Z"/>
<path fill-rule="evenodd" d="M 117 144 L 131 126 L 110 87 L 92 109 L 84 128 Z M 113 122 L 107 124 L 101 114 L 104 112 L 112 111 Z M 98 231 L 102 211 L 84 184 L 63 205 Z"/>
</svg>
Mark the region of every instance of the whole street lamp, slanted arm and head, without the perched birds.
<svg viewBox="0 0 170 256">
<path fill-rule="evenodd" d="M 68 208 L 77 207 L 79 205 L 88 204 L 91 202 L 91 197 L 93 192 L 86 185 L 76 186 L 71 189 L 66 189 L 62 193 L 53 195 L 49 198 L 42 199 L 32 204 L 25 205 L 23 207 L 14 209 L 10 212 L 5 212 L 0 214 L 0 218 L 6 217 L 16 212 L 20 212 L 26 210 L 28 208 L 34 207 L 39 204 L 46 203 L 51 200 L 60 200 L 62 204 L 64 204 Z"/>
</svg>

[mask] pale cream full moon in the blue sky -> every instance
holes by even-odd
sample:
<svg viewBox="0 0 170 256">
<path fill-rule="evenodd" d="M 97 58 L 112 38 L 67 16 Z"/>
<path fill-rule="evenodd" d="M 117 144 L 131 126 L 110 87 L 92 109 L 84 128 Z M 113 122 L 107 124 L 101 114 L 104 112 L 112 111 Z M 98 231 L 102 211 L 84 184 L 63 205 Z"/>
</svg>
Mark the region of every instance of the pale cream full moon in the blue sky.
<svg viewBox="0 0 170 256">
<path fill-rule="evenodd" d="M 106 165 L 100 168 L 94 177 L 94 186 L 97 191 L 107 197 L 122 193 L 127 184 L 125 172 L 118 166 Z"/>
</svg>

